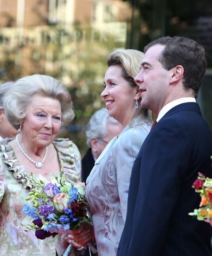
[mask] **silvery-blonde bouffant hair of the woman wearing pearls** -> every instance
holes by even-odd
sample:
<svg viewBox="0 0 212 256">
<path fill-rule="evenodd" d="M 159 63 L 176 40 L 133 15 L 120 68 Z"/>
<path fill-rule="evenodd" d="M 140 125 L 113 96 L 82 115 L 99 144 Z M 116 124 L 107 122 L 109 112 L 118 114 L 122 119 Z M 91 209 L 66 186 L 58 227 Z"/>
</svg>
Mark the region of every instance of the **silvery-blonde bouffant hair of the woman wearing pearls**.
<svg viewBox="0 0 212 256">
<path fill-rule="evenodd" d="M 33 74 L 16 81 L 4 96 L 5 114 L 14 128 L 19 128 L 26 116 L 26 109 L 35 95 L 49 97 L 60 102 L 61 127 L 68 125 L 73 120 L 73 103 L 64 84 L 48 75 Z"/>
</svg>

